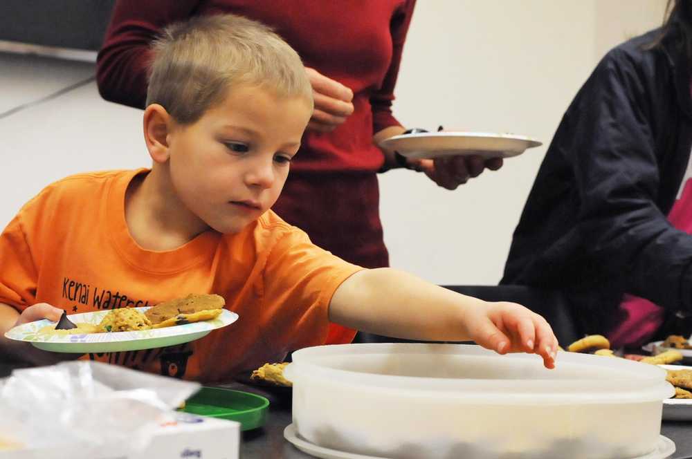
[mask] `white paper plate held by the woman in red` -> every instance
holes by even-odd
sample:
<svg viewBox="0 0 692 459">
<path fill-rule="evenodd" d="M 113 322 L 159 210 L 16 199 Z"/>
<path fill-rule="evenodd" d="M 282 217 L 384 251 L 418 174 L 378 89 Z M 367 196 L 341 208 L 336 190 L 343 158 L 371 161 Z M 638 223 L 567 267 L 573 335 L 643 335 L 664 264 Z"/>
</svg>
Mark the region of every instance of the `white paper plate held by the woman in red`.
<svg viewBox="0 0 692 459">
<path fill-rule="evenodd" d="M 394 135 L 380 142 L 382 147 L 415 160 L 446 156 L 509 158 L 541 144 L 525 135 L 451 131 Z"/>
</svg>

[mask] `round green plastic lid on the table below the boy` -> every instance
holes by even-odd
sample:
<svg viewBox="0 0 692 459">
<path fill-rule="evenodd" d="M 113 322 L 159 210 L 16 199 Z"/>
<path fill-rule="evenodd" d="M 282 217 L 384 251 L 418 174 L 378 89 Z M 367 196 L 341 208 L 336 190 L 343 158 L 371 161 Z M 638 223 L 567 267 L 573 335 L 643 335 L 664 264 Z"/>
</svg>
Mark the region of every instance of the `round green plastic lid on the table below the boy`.
<svg viewBox="0 0 692 459">
<path fill-rule="evenodd" d="M 240 430 L 262 427 L 269 400 L 249 392 L 220 387 L 203 387 L 186 402 L 185 413 L 240 422 Z"/>
</svg>

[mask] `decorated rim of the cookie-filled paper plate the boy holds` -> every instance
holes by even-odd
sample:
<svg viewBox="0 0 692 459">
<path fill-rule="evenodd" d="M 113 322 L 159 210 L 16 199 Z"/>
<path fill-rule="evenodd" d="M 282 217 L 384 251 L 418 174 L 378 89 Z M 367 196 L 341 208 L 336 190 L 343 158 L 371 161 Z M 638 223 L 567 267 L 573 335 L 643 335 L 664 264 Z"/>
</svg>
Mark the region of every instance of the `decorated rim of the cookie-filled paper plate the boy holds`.
<svg viewBox="0 0 692 459">
<path fill-rule="evenodd" d="M 145 312 L 149 307 L 134 308 L 140 312 Z M 69 319 L 74 323 L 99 324 L 105 315 L 111 310 L 94 312 L 82 312 L 81 314 L 69 315 Z M 37 320 L 12 328 L 5 333 L 9 339 L 17 341 L 28 341 L 37 343 L 104 343 L 116 341 L 134 341 L 147 338 L 163 338 L 172 336 L 192 335 L 194 333 L 216 330 L 233 324 L 238 319 L 235 312 L 222 309 L 221 314 L 215 319 L 193 322 L 192 324 L 176 325 L 164 328 L 154 328 L 152 330 L 137 330 L 131 332 L 109 332 L 109 333 L 78 333 L 75 335 L 49 335 L 38 331 L 45 326 L 53 325 L 55 322 L 47 319 Z"/>
</svg>

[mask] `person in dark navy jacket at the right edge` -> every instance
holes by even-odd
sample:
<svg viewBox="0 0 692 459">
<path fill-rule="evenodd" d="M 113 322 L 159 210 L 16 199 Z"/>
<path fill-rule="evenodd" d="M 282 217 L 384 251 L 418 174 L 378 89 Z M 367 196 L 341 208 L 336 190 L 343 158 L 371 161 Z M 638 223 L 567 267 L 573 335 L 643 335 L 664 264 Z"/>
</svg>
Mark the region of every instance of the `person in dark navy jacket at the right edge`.
<svg viewBox="0 0 692 459">
<path fill-rule="evenodd" d="M 581 330 L 615 346 L 692 333 L 692 1 L 668 11 L 567 109 L 501 281 L 562 290 Z"/>
</svg>

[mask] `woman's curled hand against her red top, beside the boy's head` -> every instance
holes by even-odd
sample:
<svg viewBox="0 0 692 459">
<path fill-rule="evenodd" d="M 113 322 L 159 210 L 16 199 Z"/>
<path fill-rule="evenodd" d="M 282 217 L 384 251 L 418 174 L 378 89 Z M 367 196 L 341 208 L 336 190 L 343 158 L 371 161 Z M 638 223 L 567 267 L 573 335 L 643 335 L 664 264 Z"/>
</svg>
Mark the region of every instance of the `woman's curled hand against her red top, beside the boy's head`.
<svg viewBox="0 0 692 459">
<path fill-rule="evenodd" d="M 315 111 L 307 127 L 320 132 L 334 131 L 354 111 L 353 91 L 314 68 L 305 68 L 305 71 L 315 100 Z"/>
</svg>

